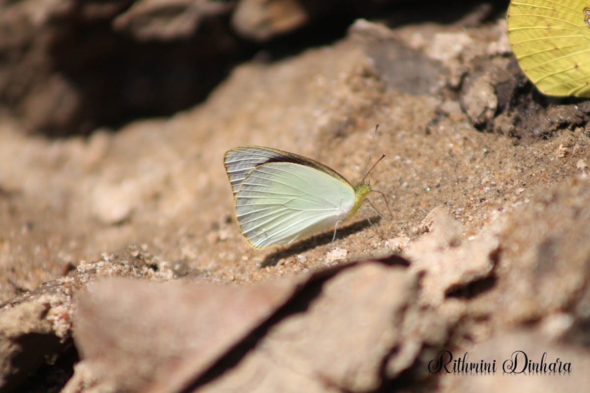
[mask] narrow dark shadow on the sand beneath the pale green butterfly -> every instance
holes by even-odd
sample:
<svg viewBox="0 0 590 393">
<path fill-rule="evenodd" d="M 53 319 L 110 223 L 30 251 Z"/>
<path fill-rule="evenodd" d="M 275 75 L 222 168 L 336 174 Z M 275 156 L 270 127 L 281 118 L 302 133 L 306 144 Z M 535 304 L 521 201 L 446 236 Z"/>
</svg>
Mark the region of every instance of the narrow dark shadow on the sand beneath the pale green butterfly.
<svg viewBox="0 0 590 393">
<path fill-rule="evenodd" d="M 369 223 L 367 220 L 360 220 L 355 223 L 350 223 L 346 226 L 339 226 L 336 230 L 336 239 L 334 239 L 334 241 L 337 239 L 343 239 L 346 236 L 352 235 L 352 233 L 360 232 L 361 230 L 376 225 L 381 221 L 381 217 L 379 216 L 371 217 L 370 219 L 371 223 Z M 317 246 L 324 246 L 332 243 L 333 236 L 334 231 L 329 230 L 317 235 L 313 235 L 312 237 L 306 237 L 306 239 L 299 240 L 293 245 L 271 252 L 266 257 L 264 257 L 263 261 L 260 263 L 260 267 L 263 268 L 276 266 L 281 259 L 294 254 L 297 255 L 304 253 L 307 250 L 311 250 Z"/>
</svg>

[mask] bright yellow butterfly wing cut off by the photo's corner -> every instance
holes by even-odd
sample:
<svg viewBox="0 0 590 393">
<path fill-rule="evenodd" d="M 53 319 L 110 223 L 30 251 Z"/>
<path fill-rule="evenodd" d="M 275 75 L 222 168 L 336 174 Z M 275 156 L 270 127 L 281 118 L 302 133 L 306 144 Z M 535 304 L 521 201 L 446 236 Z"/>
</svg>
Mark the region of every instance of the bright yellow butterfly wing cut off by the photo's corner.
<svg viewBox="0 0 590 393">
<path fill-rule="evenodd" d="M 508 38 L 526 76 L 547 95 L 590 96 L 590 1 L 513 0 Z"/>
</svg>

